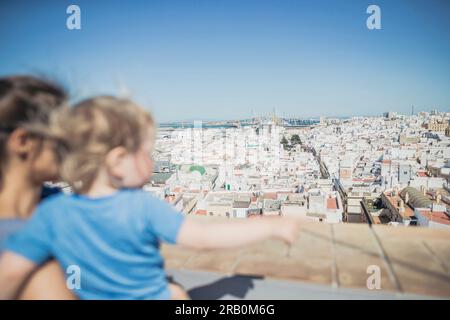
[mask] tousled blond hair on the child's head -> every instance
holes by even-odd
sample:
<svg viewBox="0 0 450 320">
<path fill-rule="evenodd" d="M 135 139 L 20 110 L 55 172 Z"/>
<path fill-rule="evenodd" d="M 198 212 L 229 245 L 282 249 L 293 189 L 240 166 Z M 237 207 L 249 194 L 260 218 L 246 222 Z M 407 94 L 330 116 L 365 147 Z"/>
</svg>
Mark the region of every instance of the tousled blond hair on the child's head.
<svg viewBox="0 0 450 320">
<path fill-rule="evenodd" d="M 50 134 L 62 147 L 61 178 L 74 192 L 89 190 L 107 153 L 124 147 L 136 152 L 149 137 L 154 139 L 151 114 L 131 100 L 99 96 L 56 112 Z"/>
</svg>

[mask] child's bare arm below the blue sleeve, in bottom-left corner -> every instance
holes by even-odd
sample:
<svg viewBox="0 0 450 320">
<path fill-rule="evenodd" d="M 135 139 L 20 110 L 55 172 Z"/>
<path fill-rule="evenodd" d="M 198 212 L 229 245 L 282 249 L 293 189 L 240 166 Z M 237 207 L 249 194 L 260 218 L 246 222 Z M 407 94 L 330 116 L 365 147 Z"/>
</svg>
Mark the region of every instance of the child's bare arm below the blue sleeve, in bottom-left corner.
<svg viewBox="0 0 450 320">
<path fill-rule="evenodd" d="M 18 254 L 3 252 L 0 256 L 0 300 L 16 298 L 36 267 L 34 262 Z"/>
</svg>

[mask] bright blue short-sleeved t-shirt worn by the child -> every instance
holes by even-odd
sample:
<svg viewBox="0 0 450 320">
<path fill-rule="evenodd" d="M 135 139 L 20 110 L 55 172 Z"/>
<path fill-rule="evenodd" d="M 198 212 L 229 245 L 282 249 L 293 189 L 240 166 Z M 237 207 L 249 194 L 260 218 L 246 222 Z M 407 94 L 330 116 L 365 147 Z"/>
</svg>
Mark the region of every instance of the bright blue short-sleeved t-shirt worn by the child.
<svg viewBox="0 0 450 320">
<path fill-rule="evenodd" d="M 141 190 L 61 194 L 43 201 L 5 249 L 37 264 L 54 257 L 74 286 L 79 270 L 81 299 L 169 299 L 159 243 L 176 243 L 183 221 Z"/>
</svg>

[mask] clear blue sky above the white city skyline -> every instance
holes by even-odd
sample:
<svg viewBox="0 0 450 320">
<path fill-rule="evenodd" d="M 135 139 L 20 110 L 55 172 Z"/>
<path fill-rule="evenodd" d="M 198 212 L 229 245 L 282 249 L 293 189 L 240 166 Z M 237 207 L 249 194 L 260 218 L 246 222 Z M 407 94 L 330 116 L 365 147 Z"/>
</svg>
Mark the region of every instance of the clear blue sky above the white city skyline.
<svg viewBox="0 0 450 320">
<path fill-rule="evenodd" d="M 0 43 L 0 75 L 128 91 L 160 122 L 450 111 L 447 0 L 0 0 Z"/>
</svg>

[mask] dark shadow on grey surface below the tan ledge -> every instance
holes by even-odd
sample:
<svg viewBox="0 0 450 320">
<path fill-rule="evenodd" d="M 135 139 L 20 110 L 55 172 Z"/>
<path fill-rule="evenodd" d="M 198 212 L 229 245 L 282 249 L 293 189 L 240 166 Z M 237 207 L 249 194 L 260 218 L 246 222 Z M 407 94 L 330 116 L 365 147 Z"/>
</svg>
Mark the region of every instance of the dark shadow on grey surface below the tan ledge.
<svg viewBox="0 0 450 320">
<path fill-rule="evenodd" d="M 250 289 L 253 281 L 261 280 L 261 276 L 230 276 L 221 278 L 210 284 L 196 287 L 188 291 L 193 300 L 217 300 L 226 295 L 243 299 Z"/>
</svg>

